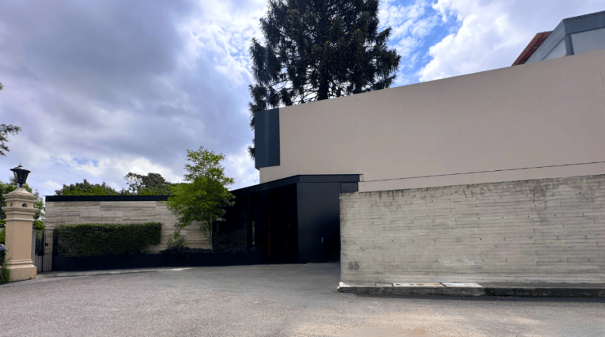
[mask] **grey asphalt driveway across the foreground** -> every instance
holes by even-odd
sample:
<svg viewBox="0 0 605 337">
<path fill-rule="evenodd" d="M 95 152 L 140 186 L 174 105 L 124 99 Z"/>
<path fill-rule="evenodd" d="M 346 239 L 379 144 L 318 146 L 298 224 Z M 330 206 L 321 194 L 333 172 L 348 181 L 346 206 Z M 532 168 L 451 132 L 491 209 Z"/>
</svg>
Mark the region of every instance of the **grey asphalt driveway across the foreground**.
<svg viewBox="0 0 605 337">
<path fill-rule="evenodd" d="M 605 336 L 603 299 L 342 294 L 339 271 L 164 268 L 1 284 L 0 336 Z"/>
</svg>

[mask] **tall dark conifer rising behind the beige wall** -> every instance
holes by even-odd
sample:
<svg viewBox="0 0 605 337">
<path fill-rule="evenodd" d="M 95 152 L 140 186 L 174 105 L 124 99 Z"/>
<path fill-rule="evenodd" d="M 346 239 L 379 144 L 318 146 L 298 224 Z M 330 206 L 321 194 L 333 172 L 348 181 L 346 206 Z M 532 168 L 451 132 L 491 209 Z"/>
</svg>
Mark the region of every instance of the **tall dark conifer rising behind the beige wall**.
<svg viewBox="0 0 605 337">
<path fill-rule="evenodd" d="M 265 45 L 252 39 L 254 113 L 278 106 L 385 89 L 401 56 L 378 31 L 379 0 L 269 0 L 260 19 Z M 249 147 L 254 157 L 254 145 Z"/>
</svg>

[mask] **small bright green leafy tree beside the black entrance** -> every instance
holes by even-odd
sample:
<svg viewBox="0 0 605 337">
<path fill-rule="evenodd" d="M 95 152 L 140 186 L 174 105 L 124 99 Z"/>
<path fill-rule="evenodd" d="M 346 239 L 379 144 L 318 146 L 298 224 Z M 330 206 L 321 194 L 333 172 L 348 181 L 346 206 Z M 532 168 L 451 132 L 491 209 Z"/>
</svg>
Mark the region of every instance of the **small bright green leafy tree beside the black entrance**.
<svg viewBox="0 0 605 337">
<path fill-rule="evenodd" d="M 204 147 L 197 151 L 187 150 L 187 160 L 192 162 L 185 165 L 189 172 L 185 175 L 187 182 L 172 186 L 172 196 L 166 201 L 168 209 L 178 219 L 175 233 L 199 221 L 201 232 L 212 243 L 214 225 L 223 220 L 223 208 L 234 204 L 234 195 L 226 187 L 233 184 L 234 179 L 224 175 L 224 167 L 220 164 L 224 158 L 223 153 L 217 155 Z"/>
</svg>

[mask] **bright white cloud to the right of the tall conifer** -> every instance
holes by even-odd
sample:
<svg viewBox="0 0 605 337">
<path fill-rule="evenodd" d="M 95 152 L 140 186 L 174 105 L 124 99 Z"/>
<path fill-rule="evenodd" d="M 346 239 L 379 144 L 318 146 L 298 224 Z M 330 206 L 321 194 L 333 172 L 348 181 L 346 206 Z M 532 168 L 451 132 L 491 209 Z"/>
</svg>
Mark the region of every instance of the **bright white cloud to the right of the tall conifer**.
<svg viewBox="0 0 605 337">
<path fill-rule="evenodd" d="M 510 66 L 536 33 L 550 31 L 564 18 L 603 10 L 597 1 L 439 0 L 442 22 L 459 30 L 430 47 L 420 81 Z"/>
</svg>

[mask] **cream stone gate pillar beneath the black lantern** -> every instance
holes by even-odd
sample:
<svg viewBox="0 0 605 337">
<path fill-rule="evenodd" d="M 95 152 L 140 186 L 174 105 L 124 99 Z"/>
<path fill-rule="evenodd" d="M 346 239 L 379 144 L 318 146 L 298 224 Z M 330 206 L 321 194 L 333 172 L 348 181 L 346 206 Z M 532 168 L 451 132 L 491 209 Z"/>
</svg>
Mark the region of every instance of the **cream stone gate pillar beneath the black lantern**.
<svg viewBox="0 0 605 337">
<path fill-rule="evenodd" d="M 4 194 L 6 213 L 5 262 L 9 281 L 36 278 L 36 266 L 31 261 L 31 228 L 36 214 L 34 202 L 38 197 L 19 187 Z"/>
</svg>

